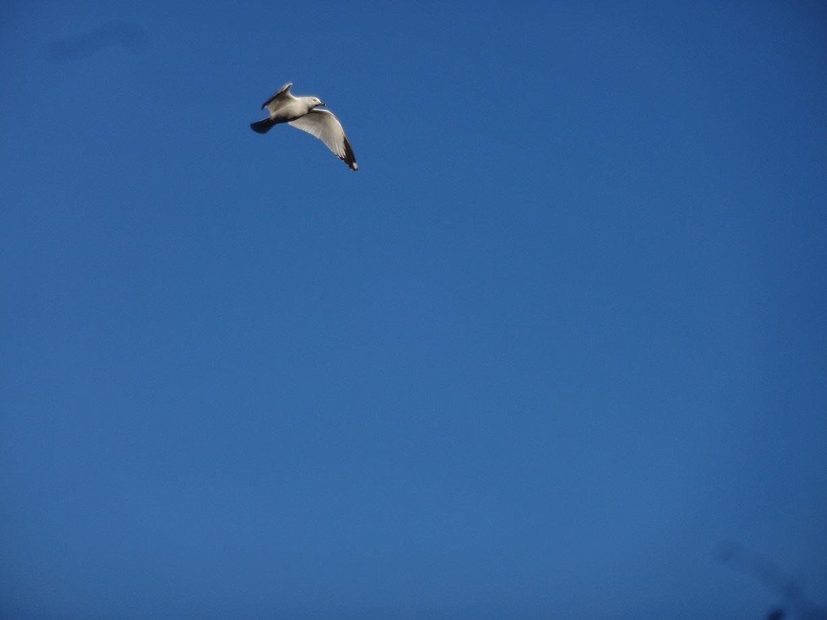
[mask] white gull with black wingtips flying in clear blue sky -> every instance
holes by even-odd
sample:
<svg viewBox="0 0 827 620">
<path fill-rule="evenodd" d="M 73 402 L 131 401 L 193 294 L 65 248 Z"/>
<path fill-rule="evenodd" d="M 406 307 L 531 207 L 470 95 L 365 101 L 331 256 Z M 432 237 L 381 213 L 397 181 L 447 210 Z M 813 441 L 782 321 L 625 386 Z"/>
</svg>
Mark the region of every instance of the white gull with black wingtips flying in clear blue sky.
<svg viewBox="0 0 827 620">
<path fill-rule="evenodd" d="M 318 97 L 296 97 L 290 93 L 292 82 L 284 84 L 273 96 L 261 104 L 261 109 L 267 108 L 269 116 L 250 123 L 253 131 L 267 133 L 274 125 L 286 122 L 296 129 L 307 131 L 323 141 L 327 148 L 332 150 L 340 160 L 345 162 L 351 170 L 359 169 L 356 157 L 353 155 L 351 143 L 347 141 L 342 123 L 333 112 L 317 110 L 317 106 L 324 103 Z"/>
</svg>

